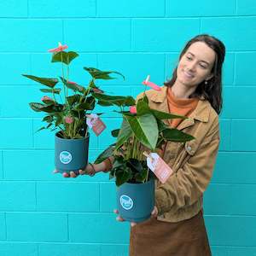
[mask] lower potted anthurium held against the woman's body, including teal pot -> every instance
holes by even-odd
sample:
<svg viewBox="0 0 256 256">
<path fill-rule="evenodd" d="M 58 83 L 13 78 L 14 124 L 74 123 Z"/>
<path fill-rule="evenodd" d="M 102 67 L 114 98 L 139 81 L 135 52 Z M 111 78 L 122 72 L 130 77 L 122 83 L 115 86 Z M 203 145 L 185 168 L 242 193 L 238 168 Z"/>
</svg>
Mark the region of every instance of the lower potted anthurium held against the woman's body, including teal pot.
<svg viewBox="0 0 256 256">
<path fill-rule="evenodd" d="M 154 89 L 158 90 L 155 86 Z M 108 96 L 95 96 L 101 102 L 117 105 Z M 96 163 L 113 156 L 110 178 L 115 177 L 119 214 L 125 220 L 142 222 L 154 209 L 155 177 L 154 172 L 148 170 L 143 152 L 158 152 L 167 141 L 185 143 L 194 137 L 166 125 L 166 119 L 186 117 L 150 108 L 145 92 L 135 106 L 130 106 L 130 111 L 125 111 L 121 102 L 119 107 L 123 123 L 119 130 L 112 131 L 116 143 L 105 149 Z"/>
</svg>

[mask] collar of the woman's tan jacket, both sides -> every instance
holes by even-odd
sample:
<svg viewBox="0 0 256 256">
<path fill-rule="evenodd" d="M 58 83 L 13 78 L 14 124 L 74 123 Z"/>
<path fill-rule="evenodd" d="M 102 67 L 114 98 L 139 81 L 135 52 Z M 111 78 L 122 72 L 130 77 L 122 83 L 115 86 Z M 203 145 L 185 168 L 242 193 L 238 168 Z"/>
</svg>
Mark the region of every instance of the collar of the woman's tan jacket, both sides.
<svg viewBox="0 0 256 256">
<path fill-rule="evenodd" d="M 151 90 L 150 100 L 156 103 L 164 103 L 161 111 L 168 112 L 168 104 L 167 104 L 167 86 L 161 87 L 161 90 Z M 210 102 L 200 99 L 195 110 L 190 114 L 189 119 L 184 119 L 183 122 L 178 125 L 178 128 L 183 129 L 186 123 L 187 125 L 193 125 L 194 119 L 199 120 L 201 122 L 207 123 L 209 120 L 210 110 L 211 110 Z M 181 127 L 179 127 L 181 126 Z"/>
</svg>

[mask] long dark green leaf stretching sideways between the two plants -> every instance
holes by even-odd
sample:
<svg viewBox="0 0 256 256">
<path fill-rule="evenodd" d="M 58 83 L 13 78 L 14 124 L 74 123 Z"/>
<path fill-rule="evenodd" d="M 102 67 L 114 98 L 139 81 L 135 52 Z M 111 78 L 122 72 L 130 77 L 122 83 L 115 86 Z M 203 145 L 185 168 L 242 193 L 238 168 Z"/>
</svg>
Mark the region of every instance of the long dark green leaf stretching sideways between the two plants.
<svg viewBox="0 0 256 256">
<path fill-rule="evenodd" d="M 113 104 L 117 106 L 133 106 L 135 99 L 132 96 L 108 96 L 102 93 L 92 93 L 99 102 L 106 102 L 106 104 Z"/>
</svg>

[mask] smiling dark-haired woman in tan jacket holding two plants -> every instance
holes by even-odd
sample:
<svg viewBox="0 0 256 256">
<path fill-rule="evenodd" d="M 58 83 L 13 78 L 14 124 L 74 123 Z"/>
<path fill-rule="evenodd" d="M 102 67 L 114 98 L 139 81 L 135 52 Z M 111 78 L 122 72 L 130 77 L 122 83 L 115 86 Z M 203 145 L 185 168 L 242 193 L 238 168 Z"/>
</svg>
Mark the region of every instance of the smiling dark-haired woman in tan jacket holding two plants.
<svg viewBox="0 0 256 256">
<path fill-rule="evenodd" d="M 131 256 L 211 255 L 202 195 L 218 153 L 224 55 L 224 44 L 217 38 L 198 35 L 185 45 L 172 79 L 160 91 L 147 91 L 150 108 L 189 117 L 172 119 L 170 125 L 193 135 L 195 140 L 168 142 L 163 149 L 162 157 L 174 174 L 156 187 L 152 218 L 131 227 Z M 94 175 L 110 168 L 108 160 L 89 165 L 80 174 Z M 118 220 L 123 221 L 121 217 Z"/>
</svg>

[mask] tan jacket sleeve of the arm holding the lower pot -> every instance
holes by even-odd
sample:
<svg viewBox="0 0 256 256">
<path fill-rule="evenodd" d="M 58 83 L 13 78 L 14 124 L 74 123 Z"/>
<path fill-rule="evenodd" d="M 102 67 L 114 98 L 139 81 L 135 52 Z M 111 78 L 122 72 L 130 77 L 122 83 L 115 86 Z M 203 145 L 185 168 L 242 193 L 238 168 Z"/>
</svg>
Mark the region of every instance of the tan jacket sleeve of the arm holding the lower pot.
<svg viewBox="0 0 256 256">
<path fill-rule="evenodd" d="M 178 208 L 192 205 L 199 200 L 212 177 L 218 144 L 217 118 L 212 122 L 211 129 L 195 154 L 165 184 L 155 190 L 155 205 L 159 214 L 176 212 Z"/>
</svg>

